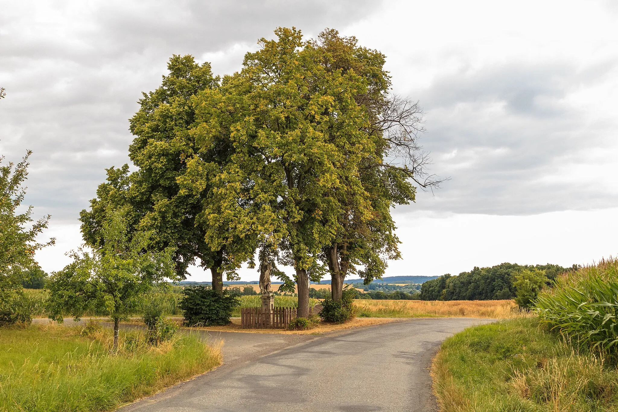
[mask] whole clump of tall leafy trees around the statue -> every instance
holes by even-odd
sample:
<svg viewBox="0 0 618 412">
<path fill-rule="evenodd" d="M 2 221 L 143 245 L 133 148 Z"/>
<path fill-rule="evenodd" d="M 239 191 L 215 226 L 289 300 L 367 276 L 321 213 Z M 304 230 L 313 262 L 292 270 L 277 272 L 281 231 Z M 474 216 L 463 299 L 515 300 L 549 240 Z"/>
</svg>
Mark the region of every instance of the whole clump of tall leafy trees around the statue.
<svg viewBox="0 0 618 412">
<path fill-rule="evenodd" d="M 336 30 L 275 35 L 222 79 L 191 56 L 170 59 L 130 120 L 138 169 L 108 169 L 82 232 L 103 246 L 105 211 L 125 208 L 132 230 L 156 233 L 151 247 L 174 247 L 181 277 L 195 259 L 210 267 L 215 290 L 260 248 L 294 267 L 273 273 L 298 284 L 302 316 L 310 280 L 329 272 L 338 300 L 348 273 L 381 277 L 400 257 L 391 207 L 439 180 L 417 143 L 420 107 L 389 95 L 383 54 Z"/>
</svg>

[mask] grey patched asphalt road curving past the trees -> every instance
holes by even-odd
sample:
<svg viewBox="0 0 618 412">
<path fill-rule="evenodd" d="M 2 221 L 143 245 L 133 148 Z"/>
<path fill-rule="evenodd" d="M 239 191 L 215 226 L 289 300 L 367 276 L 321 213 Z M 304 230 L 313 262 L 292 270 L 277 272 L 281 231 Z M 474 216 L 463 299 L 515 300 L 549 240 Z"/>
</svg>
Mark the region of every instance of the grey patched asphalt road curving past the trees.
<svg viewBox="0 0 618 412">
<path fill-rule="evenodd" d="M 434 411 L 442 340 L 490 319 L 410 319 L 320 337 L 227 333 L 224 366 L 121 412 Z"/>
</svg>

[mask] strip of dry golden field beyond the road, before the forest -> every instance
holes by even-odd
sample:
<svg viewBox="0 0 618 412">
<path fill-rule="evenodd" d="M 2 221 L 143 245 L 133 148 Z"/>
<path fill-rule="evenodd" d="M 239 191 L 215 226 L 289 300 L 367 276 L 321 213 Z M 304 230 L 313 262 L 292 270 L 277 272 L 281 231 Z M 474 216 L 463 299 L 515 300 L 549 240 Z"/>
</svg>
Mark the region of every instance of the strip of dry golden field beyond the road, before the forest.
<svg viewBox="0 0 618 412">
<path fill-rule="evenodd" d="M 363 300 L 354 301 L 360 317 L 531 317 L 512 300 Z"/>
</svg>

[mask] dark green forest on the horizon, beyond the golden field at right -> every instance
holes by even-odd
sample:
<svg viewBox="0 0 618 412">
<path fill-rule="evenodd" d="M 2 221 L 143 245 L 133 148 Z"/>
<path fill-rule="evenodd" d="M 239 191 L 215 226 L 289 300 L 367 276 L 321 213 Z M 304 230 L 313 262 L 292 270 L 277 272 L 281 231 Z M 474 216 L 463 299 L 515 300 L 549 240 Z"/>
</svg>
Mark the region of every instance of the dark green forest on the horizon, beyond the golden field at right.
<svg viewBox="0 0 618 412">
<path fill-rule="evenodd" d="M 577 269 L 578 265 L 562 267 L 557 264 L 519 265 L 502 263 L 492 267 L 475 267 L 459 276 L 446 274 L 428 280 L 421 287 L 421 300 L 500 300 L 515 297 L 512 275 L 525 269 L 545 271 L 551 281 L 562 272 Z"/>
</svg>

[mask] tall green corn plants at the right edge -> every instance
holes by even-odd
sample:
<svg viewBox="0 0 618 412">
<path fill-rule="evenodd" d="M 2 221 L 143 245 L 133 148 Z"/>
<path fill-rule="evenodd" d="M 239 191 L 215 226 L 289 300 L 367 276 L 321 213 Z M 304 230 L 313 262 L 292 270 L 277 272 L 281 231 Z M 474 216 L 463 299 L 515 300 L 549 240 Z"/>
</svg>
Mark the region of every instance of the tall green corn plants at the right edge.
<svg viewBox="0 0 618 412">
<path fill-rule="evenodd" d="M 618 358 L 618 261 L 609 259 L 557 277 L 538 295 L 539 319 L 572 338 Z"/>
</svg>

